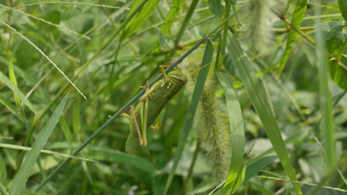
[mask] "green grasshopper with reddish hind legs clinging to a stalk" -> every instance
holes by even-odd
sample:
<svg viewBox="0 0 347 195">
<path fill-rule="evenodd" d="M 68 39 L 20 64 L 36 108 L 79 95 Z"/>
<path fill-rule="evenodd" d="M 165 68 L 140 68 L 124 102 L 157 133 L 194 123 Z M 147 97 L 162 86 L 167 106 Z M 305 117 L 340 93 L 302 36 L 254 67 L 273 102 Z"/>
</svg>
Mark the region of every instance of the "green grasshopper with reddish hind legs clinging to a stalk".
<svg viewBox="0 0 347 195">
<path fill-rule="evenodd" d="M 140 144 L 142 146 L 147 145 L 146 132 L 149 128 L 161 129 L 158 118 L 159 113 L 164 109 L 167 102 L 177 93 L 179 93 L 187 84 L 187 76 L 181 71 L 172 71 L 167 74 L 165 73 L 164 67 L 170 66 L 171 65 L 159 66 L 159 69 L 164 77 L 155 83 L 151 88 L 148 86 L 148 82 L 146 83 L 145 87 L 140 86 L 147 89 L 145 95 L 141 98 L 140 102 L 135 106 L 135 108 L 132 105 L 128 108 L 131 111 L 131 115 L 122 113 L 123 116 L 130 118 L 130 134 L 125 143 L 125 151 L 128 153 L 134 152 L 137 146 Z M 152 123 L 156 118 L 157 126 L 154 127 Z"/>
</svg>

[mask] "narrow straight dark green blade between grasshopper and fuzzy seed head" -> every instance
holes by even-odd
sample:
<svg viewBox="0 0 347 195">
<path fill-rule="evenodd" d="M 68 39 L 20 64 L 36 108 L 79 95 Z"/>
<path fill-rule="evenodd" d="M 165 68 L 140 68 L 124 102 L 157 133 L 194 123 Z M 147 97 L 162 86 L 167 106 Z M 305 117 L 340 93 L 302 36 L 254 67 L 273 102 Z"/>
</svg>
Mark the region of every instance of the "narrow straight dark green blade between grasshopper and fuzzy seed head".
<svg viewBox="0 0 347 195">
<path fill-rule="evenodd" d="M 205 81 L 206 81 L 207 73 L 209 73 L 210 64 L 212 62 L 212 57 L 213 57 L 213 44 L 210 40 L 207 40 L 205 51 L 204 51 L 204 54 L 202 57 L 201 66 L 200 66 L 200 67 L 203 67 L 206 65 L 206 67 L 200 69 L 199 75 L 198 75 L 197 80 L 196 80 L 192 99 L 190 101 L 188 111 L 187 111 L 186 121 L 184 123 L 184 127 L 183 127 L 183 130 L 182 130 L 182 133 L 180 136 L 180 140 L 179 140 L 179 143 L 177 146 L 175 159 L 173 160 L 173 165 L 171 167 L 169 176 L 166 180 L 164 193 L 163 193 L 164 195 L 167 193 L 167 190 L 170 187 L 170 184 L 172 182 L 173 176 L 175 175 L 176 168 L 177 168 L 178 163 L 181 159 L 182 151 L 183 151 L 184 146 L 185 146 L 186 141 L 187 141 L 189 130 L 193 125 L 193 119 L 194 119 L 195 111 L 196 111 L 197 105 L 199 103 L 199 99 L 200 99 L 200 96 L 202 93 L 203 86 L 204 86 Z"/>
</svg>

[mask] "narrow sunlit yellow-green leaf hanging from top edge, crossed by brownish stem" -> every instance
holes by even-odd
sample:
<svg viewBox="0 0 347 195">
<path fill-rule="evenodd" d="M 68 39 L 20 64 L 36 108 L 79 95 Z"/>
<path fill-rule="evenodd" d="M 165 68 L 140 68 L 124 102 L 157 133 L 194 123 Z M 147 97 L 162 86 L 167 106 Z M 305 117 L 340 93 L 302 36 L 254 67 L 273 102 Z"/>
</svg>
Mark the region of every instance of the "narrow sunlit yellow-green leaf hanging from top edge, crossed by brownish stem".
<svg viewBox="0 0 347 195">
<path fill-rule="evenodd" d="M 303 20 L 303 17 L 306 12 L 306 5 L 308 1 L 307 0 L 298 0 L 296 3 L 296 7 L 294 10 L 294 14 L 292 17 L 292 25 L 295 26 L 296 28 L 300 28 L 301 22 Z M 290 52 L 292 51 L 292 47 L 294 45 L 295 39 L 296 39 L 297 32 L 294 29 L 290 29 L 287 37 L 287 45 L 286 45 L 286 50 L 283 54 L 282 60 L 281 60 L 281 65 L 280 65 L 280 71 L 279 71 L 279 76 L 281 76 L 282 71 L 284 67 L 286 66 L 286 63 L 288 61 Z"/>
</svg>

